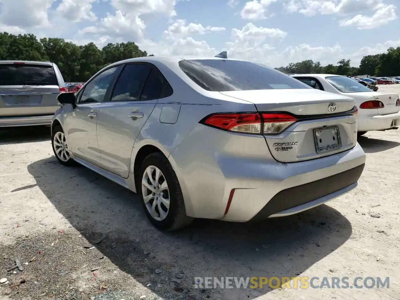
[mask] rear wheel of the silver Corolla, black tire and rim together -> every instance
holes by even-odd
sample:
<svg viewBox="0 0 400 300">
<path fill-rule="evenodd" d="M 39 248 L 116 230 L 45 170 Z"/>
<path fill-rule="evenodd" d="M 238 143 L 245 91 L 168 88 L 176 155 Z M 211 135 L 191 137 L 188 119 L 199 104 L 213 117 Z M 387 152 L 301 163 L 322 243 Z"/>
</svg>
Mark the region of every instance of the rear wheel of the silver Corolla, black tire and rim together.
<svg viewBox="0 0 400 300">
<path fill-rule="evenodd" d="M 168 159 L 160 152 L 142 162 L 138 193 L 147 218 L 160 230 L 177 230 L 190 224 L 178 178 Z"/>
</svg>

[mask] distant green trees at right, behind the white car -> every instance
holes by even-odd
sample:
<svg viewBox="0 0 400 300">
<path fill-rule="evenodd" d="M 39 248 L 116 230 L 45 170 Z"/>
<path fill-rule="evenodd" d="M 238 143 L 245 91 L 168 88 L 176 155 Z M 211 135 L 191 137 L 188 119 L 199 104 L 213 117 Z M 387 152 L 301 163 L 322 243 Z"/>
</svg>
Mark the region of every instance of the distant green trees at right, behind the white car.
<svg viewBox="0 0 400 300">
<path fill-rule="evenodd" d="M 286 67 L 275 68 L 286 74 L 322 73 L 344 76 L 371 75 L 371 76 L 400 76 L 400 47 L 390 47 L 386 53 L 366 55 L 362 58 L 358 68 L 350 66 L 351 60 L 342 59 L 336 65 L 321 66 L 320 62 L 303 60 L 290 63 Z"/>
</svg>

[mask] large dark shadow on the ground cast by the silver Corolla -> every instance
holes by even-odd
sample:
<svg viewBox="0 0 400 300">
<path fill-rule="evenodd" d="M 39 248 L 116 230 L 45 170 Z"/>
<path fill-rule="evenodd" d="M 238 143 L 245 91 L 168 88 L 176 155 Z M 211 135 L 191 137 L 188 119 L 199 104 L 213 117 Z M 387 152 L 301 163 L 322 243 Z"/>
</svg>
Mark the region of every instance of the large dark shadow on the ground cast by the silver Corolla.
<svg viewBox="0 0 400 300">
<path fill-rule="evenodd" d="M 155 280 L 148 288 L 166 299 L 171 295 L 157 289 L 162 279 L 152 277 L 156 269 L 163 271 L 165 283 L 181 274 L 185 297 L 220 293 L 220 299 L 254 299 L 271 289 L 200 292 L 193 288 L 194 277 L 298 276 L 352 234 L 350 222 L 327 205 L 261 223 L 195 220 L 165 233 L 148 222 L 136 194 L 91 170 L 66 168 L 53 156 L 30 164 L 28 171 L 58 212 L 104 256 L 144 286 Z M 173 298 L 188 299 L 183 296 Z"/>
</svg>

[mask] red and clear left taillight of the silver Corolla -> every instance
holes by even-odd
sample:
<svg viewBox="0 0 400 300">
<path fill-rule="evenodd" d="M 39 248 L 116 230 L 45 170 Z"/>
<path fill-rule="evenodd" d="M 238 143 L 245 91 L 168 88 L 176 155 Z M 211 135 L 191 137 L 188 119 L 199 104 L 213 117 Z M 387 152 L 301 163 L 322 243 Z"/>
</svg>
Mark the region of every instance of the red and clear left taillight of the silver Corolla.
<svg viewBox="0 0 400 300">
<path fill-rule="evenodd" d="M 284 113 L 240 113 L 213 114 L 202 123 L 234 132 L 279 134 L 296 121 L 294 116 Z"/>
</svg>

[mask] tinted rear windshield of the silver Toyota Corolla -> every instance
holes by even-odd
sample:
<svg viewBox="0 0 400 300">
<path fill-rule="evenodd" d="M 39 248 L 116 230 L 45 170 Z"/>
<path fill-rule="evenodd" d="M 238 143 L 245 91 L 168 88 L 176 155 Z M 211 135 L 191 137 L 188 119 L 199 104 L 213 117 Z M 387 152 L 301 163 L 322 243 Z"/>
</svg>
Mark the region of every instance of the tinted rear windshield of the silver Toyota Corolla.
<svg viewBox="0 0 400 300">
<path fill-rule="evenodd" d="M 212 92 L 311 88 L 277 70 L 239 60 L 182 60 L 181 70 L 196 84 Z"/>
</svg>

